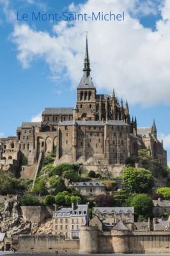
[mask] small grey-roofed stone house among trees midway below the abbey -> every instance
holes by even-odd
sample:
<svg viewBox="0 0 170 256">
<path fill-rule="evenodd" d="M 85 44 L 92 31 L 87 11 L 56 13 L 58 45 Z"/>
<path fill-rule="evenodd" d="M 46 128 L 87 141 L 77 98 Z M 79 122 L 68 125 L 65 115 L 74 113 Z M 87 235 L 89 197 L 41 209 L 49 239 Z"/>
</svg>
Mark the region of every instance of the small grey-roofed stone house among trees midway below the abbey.
<svg viewBox="0 0 170 256">
<path fill-rule="evenodd" d="M 105 186 L 101 182 L 77 182 L 75 188 L 83 196 L 97 196 L 105 194 Z"/>
</svg>

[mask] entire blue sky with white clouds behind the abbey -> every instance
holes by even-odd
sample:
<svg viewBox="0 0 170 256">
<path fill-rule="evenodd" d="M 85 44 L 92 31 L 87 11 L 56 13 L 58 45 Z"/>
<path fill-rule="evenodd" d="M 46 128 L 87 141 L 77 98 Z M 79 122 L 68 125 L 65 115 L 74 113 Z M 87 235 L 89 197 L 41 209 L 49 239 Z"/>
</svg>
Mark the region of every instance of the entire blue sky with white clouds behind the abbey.
<svg viewBox="0 0 170 256">
<path fill-rule="evenodd" d="M 114 87 L 118 97 L 128 99 L 139 127 L 150 126 L 155 118 L 170 156 L 168 1 L 100 0 L 98 6 L 95 1 L 0 0 L 0 136 L 15 135 L 22 122 L 36 120 L 45 107 L 75 105 L 88 30 L 98 92 L 111 93 Z M 17 22 L 15 17 L 17 12 L 68 10 L 125 11 L 126 19 L 62 23 Z"/>
</svg>

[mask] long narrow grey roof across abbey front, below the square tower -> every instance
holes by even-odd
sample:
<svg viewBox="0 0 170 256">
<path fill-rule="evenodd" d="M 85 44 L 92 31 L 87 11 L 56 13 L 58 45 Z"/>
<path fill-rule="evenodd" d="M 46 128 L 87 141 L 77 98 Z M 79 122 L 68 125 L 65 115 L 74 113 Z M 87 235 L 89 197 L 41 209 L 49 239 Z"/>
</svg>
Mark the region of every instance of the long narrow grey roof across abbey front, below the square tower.
<svg viewBox="0 0 170 256">
<path fill-rule="evenodd" d="M 58 125 L 63 126 L 63 125 L 73 125 L 73 124 L 77 124 L 77 125 L 92 125 L 92 126 L 104 126 L 104 125 L 123 125 L 123 126 L 128 126 L 128 124 L 126 124 L 123 121 L 119 121 L 119 120 L 108 120 L 107 122 L 103 122 L 103 121 L 63 121 L 63 122 L 59 122 Z"/>
</svg>

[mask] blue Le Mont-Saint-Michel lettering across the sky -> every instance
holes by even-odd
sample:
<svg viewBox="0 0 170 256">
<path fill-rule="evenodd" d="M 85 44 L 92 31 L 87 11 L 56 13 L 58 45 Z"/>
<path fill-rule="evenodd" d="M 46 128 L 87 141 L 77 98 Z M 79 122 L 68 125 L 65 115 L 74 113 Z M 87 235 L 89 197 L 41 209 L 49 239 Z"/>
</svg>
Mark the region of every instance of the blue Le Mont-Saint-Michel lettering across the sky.
<svg viewBox="0 0 170 256">
<path fill-rule="evenodd" d="M 88 21 L 88 20 L 105 20 L 105 21 L 123 21 L 125 20 L 125 12 L 91 12 L 91 13 L 42 13 L 42 12 L 31 12 L 31 13 L 19 13 L 17 12 L 18 21 Z"/>
</svg>

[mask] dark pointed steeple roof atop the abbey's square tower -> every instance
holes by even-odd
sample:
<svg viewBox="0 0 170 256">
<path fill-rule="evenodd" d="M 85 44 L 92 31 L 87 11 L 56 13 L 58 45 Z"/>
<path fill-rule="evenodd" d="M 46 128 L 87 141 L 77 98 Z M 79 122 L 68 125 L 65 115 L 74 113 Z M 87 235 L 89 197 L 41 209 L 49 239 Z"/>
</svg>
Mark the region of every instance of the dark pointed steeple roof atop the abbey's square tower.
<svg viewBox="0 0 170 256">
<path fill-rule="evenodd" d="M 95 86 L 93 85 L 92 78 L 90 76 L 90 64 L 89 64 L 89 52 L 88 52 L 88 36 L 86 36 L 86 53 L 84 58 L 84 68 L 83 68 L 83 76 L 81 79 L 81 83 L 79 83 L 79 86 L 77 89 L 95 89 Z"/>
</svg>

